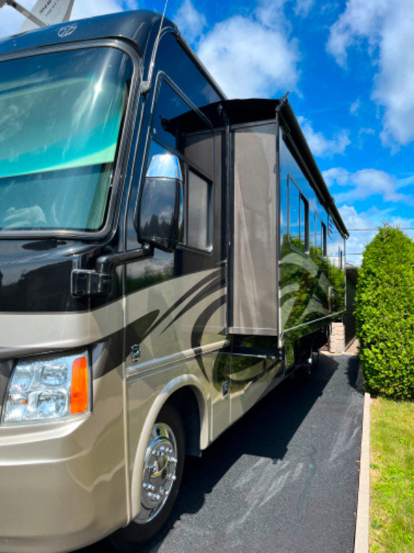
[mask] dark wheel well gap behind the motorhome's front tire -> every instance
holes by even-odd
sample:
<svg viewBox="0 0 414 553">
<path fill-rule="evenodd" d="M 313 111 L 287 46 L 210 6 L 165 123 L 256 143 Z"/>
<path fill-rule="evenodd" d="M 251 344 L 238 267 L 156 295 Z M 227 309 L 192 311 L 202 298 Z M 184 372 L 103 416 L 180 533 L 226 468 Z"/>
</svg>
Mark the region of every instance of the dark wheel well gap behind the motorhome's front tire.
<svg viewBox="0 0 414 553">
<path fill-rule="evenodd" d="M 181 416 L 186 435 L 186 455 L 200 457 L 201 422 L 195 392 L 190 386 L 184 386 L 173 393 L 167 403 L 174 406 Z"/>
</svg>

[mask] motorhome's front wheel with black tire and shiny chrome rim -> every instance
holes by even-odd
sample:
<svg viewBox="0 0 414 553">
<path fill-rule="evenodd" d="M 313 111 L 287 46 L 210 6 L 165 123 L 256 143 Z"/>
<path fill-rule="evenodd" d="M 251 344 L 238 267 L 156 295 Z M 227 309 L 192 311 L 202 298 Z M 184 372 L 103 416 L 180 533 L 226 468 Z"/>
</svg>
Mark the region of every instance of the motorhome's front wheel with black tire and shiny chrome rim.
<svg viewBox="0 0 414 553">
<path fill-rule="evenodd" d="M 152 427 L 141 480 L 141 510 L 109 536 L 112 550 L 132 553 L 146 545 L 172 511 L 184 469 L 184 427 L 174 407 L 164 405 Z"/>
</svg>

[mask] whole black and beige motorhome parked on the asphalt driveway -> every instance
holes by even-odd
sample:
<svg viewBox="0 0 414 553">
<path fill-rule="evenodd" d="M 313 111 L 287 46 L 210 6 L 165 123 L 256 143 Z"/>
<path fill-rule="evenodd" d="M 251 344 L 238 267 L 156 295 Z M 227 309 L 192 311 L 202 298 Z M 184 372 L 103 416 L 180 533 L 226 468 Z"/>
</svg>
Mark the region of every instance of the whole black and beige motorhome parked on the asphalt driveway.
<svg viewBox="0 0 414 553">
<path fill-rule="evenodd" d="M 227 99 L 168 19 L 0 41 L 0 552 L 155 536 L 311 370 L 347 236 L 287 98 Z"/>
</svg>

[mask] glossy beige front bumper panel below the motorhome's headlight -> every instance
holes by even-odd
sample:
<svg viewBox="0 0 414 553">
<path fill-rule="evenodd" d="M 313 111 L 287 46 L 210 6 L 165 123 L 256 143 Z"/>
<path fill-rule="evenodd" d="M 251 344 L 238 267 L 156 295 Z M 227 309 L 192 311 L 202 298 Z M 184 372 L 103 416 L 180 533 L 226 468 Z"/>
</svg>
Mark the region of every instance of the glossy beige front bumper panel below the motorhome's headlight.
<svg viewBox="0 0 414 553">
<path fill-rule="evenodd" d="M 125 524 L 119 371 L 94 382 L 83 418 L 0 429 L 1 553 L 75 550 Z"/>
</svg>

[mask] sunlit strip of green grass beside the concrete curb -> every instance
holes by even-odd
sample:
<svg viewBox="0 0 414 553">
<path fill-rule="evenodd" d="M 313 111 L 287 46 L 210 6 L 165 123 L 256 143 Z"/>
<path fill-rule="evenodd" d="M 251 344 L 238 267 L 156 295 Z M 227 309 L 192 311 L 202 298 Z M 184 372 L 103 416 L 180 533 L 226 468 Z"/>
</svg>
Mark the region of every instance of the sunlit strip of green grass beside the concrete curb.
<svg viewBox="0 0 414 553">
<path fill-rule="evenodd" d="M 370 552 L 414 553 L 414 404 L 371 404 Z"/>
</svg>

